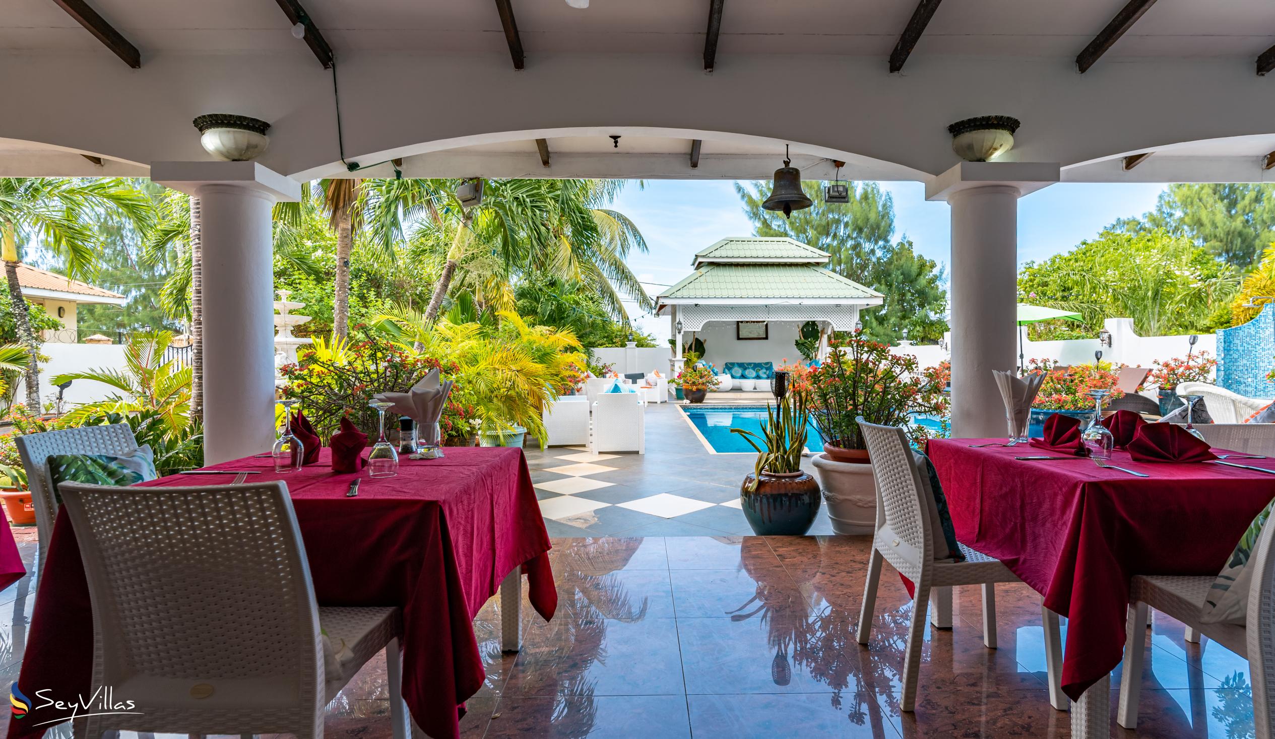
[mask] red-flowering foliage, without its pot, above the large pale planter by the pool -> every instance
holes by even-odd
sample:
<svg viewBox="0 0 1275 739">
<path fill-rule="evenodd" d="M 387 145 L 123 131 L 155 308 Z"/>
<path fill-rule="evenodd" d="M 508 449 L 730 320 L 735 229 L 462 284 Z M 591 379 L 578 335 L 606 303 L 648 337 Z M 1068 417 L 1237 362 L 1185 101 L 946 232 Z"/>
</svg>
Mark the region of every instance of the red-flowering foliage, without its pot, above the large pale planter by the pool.
<svg viewBox="0 0 1275 739">
<path fill-rule="evenodd" d="M 894 354 L 887 344 L 858 334 L 829 345 L 827 358 L 807 375 L 811 419 L 825 443 L 867 448 L 857 417 L 901 426 L 914 443 L 927 433 L 912 423 L 912 414 L 941 413 L 942 386 L 921 372 L 915 357 Z"/>
</svg>

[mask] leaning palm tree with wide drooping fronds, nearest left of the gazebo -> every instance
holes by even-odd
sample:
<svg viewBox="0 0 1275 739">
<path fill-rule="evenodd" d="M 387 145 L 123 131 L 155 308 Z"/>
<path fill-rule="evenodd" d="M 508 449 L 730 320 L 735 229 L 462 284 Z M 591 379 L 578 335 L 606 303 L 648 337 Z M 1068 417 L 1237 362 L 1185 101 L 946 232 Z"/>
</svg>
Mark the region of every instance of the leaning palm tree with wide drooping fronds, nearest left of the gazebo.
<svg viewBox="0 0 1275 739">
<path fill-rule="evenodd" d="M 363 200 L 368 236 L 381 250 L 405 237 L 404 223 L 450 242 L 442 274 L 425 311 L 439 317 L 458 273 L 467 289 L 511 307 L 510 276 L 543 271 L 580 282 L 622 321 L 621 293 L 650 310 L 652 301 L 625 259 L 646 251 L 638 227 L 603 208 L 623 186 L 618 180 L 487 180 L 482 204 L 465 209 L 455 196 L 460 180 L 368 180 Z M 499 270 L 491 269 L 495 257 Z M 467 269 L 474 264 L 476 269 Z M 618 288 L 618 289 L 617 289 Z"/>
</svg>

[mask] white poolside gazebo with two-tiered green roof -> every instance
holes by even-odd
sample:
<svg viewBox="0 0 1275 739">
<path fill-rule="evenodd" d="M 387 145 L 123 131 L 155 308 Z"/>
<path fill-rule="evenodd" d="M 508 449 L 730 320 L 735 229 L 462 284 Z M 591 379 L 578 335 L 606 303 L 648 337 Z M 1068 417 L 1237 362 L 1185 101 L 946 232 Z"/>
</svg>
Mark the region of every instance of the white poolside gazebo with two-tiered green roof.
<svg viewBox="0 0 1275 739">
<path fill-rule="evenodd" d="M 820 355 L 830 331 L 849 331 L 859 310 L 880 306 L 881 293 L 827 269 L 826 251 L 787 237 L 732 237 L 695 254 L 695 271 L 655 298 L 669 317 L 673 371 L 681 368 L 685 333 L 704 341 L 705 361 L 796 361 L 801 327 L 820 327 Z"/>
</svg>

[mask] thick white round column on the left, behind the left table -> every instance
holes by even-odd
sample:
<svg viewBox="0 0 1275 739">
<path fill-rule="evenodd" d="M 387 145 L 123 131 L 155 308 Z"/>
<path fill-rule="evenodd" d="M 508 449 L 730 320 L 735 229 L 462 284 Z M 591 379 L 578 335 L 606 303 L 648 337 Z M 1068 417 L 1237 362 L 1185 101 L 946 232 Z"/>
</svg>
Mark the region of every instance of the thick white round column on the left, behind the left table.
<svg viewBox="0 0 1275 739">
<path fill-rule="evenodd" d="M 274 265 L 270 208 L 300 183 L 254 162 L 157 162 L 154 181 L 203 209 L 204 461 L 274 443 Z"/>
</svg>

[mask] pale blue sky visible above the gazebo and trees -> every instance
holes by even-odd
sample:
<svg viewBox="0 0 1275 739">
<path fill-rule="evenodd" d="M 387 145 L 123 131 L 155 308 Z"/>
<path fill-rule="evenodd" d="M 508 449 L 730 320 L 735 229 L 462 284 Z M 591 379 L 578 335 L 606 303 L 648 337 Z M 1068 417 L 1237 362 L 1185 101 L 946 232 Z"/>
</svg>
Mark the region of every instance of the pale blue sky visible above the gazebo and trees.
<svg viewBox="0 0 1275 739">
<path fill-rule="evenodd" d="M 895 238 L 907 234 L 921 254 L 946 265 L 951 256 L 947 204 L 927 201 L 921 182 L 882 182 L 881 187 L 894 197 Z M 1060 183 L 1028 195 L 1019 201 L 1019 262 L 1068 251 L 1117 218 L 1151 210 L 1163 189 Z M 752 233 L 732 182 L 650 180 L 641 189 L 630 183 L 612 206 L 632 218 L 646 237 L 650 254 L 630 255 L 629 265 L 649 283 L 652 294 L 686 276 L 696 251 L 727 236 Z M 646 316 L 636 322 L 662 341 L 668 338 L 667 319 Z"/>
</svg>

